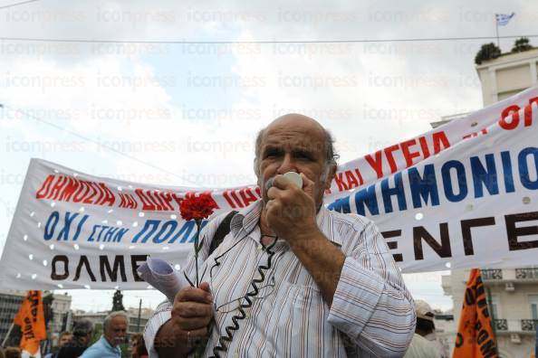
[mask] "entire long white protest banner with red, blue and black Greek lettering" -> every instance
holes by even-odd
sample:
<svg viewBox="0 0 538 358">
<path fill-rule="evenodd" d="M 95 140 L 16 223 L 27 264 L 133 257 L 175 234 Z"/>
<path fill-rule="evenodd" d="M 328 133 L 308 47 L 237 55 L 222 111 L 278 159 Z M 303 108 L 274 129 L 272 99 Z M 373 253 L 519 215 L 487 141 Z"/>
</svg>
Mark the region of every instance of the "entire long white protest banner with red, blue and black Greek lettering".
<svg viewBox="0 0 538 358">
<path fill-rule="evenodd" d="M 375 221 L 403 272 L 532 265 L 537 138 L 538 87 L 340 165 L 325 204 Z M 0 279 L 14 288 L 147 287 L 136 269 L 148 255 L 185 264 L 196 229 L 179 203 L 198 193 L 34 159 Z M 215 215 L 260 198 L 255 185 L 205 193 Z"/>
</svg>

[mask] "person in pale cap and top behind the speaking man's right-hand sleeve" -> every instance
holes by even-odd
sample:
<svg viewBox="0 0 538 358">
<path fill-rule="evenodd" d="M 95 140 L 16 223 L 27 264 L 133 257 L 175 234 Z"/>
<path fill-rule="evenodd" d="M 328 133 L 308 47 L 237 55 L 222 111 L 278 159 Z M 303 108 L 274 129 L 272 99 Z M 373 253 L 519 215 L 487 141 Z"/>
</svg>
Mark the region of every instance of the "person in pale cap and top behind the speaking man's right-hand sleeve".
<svg viewBox="0 0 538 358">
<path fill-rule="evenodd" d="M 447 358 L 448 353 L 443 344 L 439 342 L 434 324 L 434 313 L 426 301 L 415 300 L 417 312 L 417 326 L 415 335 L 409 344 L 406 358 L 441 357 Z"/>
</svg>

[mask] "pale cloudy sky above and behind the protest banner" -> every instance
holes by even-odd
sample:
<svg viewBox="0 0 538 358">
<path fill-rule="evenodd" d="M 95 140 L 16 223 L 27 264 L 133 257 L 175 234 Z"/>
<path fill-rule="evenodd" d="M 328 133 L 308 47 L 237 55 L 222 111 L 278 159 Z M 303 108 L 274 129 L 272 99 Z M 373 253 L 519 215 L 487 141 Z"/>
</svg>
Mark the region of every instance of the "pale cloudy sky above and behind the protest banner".
<svg viewBox="0 0 538 358">
<path fill-rule="evenodd" d="M 495 36 L 495 13 L 515 12 L 502 36 L 533 34 L 538 20 L 532 2 L 498 0 L 2 8 L 13 3 L 0 2 L 0 252 L 32 157 L 150 184 L 251 184 L 257 130 L 300 112 L 331 129 L 343 163 L 481 108 L 474 57 L 493 39 L 454 39 Z M 437 40 L 381 41 L 425 38 Z M 501 39 L 502 50 L 513 42 Z M 440 274 L 406 280 L 447 309 Z M 110 308 L 110 291 L 70 294 L 75 308 Z M 124 294 L 126 306 L 161 299 Z"/>
</svg>

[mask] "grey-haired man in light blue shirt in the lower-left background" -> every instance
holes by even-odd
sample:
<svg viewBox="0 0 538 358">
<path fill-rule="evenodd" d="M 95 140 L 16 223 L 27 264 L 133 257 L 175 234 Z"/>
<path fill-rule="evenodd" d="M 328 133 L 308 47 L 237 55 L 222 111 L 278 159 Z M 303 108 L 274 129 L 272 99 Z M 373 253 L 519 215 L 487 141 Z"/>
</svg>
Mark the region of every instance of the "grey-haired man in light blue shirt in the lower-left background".
<svg viewBox="0 0 538 358">
<path fill-rule="evenodd" d="M 101 338 L 82 353 L 81 358 L 120 358 L 129 317 L 123 311 L 112 312 L 102 323 Z"/>
</svg>

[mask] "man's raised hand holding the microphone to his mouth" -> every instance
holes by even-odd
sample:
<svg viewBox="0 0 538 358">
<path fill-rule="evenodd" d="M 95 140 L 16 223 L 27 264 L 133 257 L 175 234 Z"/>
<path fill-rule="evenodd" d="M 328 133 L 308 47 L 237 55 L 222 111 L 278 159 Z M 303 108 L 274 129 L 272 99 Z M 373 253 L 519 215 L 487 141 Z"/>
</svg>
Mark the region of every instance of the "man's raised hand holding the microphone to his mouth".
<svg viewBox="0 0 538 358">
<path fill-rule="evenodd" d="M 265 205 L 267 225 L 290 245 L 299 236 L 308 237 L 318 232 L 316 208 L 313 200 L 314 183 L 304 174 L 303 188 L 298 188 L 283 175 L 274 177 L 273 186 L 267 192 Z"/>
</svg>

